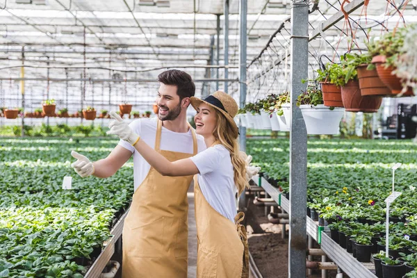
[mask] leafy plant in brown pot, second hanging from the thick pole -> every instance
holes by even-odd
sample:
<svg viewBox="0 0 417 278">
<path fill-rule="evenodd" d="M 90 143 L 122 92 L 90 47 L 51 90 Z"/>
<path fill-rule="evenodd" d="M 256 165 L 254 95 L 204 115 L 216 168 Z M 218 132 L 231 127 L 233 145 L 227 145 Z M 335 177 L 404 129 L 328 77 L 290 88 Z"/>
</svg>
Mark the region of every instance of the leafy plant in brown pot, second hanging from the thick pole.
<svg viewBox="0 0 417 278">
<path fill-rule="evenodd" d="M 343 78 L 338 79 L 336 85 L 341 85 L 342 101 L 346 111 L 375 113 L 382 104 L 382 97 L 362 97 L 357 72 L 357 67 L 361 63 L 361 60 L 357 56 L 357 54 L 345 54 L 341 56 L 343 67 L 341 77 Z"/>
</svg>

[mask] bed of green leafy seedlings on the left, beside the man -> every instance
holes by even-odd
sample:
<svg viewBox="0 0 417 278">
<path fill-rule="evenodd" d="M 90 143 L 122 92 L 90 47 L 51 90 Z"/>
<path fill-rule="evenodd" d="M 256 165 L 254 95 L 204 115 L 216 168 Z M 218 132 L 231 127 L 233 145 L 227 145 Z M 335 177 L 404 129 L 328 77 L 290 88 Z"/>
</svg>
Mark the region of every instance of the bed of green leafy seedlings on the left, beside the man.
<svg viewBox="0 0 417 278">
<path fill-rule="evenodd" d="M 70 152 L 97 160 L 115 145 L 114 139 L 0 139 L 0 277 L 84 277 L 129 206 L 133 165 L 108 179 L 81 179 Z M 62 189 L 65 176 L 73 177 L 72 190 Z"/>
</svg>

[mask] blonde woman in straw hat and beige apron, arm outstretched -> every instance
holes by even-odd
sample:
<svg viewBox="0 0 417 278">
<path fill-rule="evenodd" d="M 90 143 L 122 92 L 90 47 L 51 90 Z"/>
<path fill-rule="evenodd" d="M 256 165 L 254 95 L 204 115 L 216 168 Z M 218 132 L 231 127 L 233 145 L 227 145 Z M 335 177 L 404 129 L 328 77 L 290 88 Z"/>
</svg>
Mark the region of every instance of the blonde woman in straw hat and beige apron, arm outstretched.
<svg viewBox="0 0 417 278">
<path fill-rule="evenodd" d="M 195 221 L 197 223 L 197 277 L 249 277 L 247 237 L 240 224 L 244 214 L 236 211 L 236 196 L 248 186 L 247 177 L 259 171 L 248 167 L 239 151 L 238 126 L 233 118 L 236 101 L 224 92 L 206 99 L 191 97 L 197 111 L 195 132 L 204 137 L 207 149 L 178 161 L 164 156 L 140 140 L 140 136 L 115 113 L 109 134 L 132 145 L 163 176 L 194 177 Z M 161 124 L 161 121 L 158 122 Z"/>
</svg>

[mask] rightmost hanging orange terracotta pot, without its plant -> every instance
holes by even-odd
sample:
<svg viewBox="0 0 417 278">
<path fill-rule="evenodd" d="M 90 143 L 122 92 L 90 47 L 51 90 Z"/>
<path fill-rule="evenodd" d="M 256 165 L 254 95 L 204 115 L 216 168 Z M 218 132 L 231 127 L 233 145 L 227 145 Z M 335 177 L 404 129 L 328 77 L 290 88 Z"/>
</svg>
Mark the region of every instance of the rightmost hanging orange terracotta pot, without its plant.
<svg viewBox="0 0 417 278">
<path fill-rule="evenodd" d="M 391 92 L 393 95 L 398 95 L 402 90 L 402 84 L 401 79 L 396 76 L 395 74 L 392 74 L 393 70 L 395 68 L 389 66 L 386 67 L 384 63 L 386 62 L 385 56 L 375 56 L 372 59 L 372 63 L 374 63 L 377 67 L 377 72 L 379 79 L 388 87 L 391 89 Z M 408 88 L 407 92 L 404 92 L 402 96 L 409 97 L 413 94 L 413 90 L 411 88 Z"/>
</svg>

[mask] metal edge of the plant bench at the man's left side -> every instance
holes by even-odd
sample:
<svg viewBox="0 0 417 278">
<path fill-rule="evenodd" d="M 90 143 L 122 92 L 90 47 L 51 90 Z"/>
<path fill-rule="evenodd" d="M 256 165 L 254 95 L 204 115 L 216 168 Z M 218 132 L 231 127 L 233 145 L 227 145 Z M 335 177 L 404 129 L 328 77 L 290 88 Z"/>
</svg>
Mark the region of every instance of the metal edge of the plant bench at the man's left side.
<svg viewBox="0 0 417 278">
<path fill-rule="evenodd" d="M 110 261 L 111 256 L 115 253 L 115 243 L 122 236 L 124 219 L 126 218 L 129 209 L 122 215 L 119 221 L 115 224 L 113 229 L 110 231 L 111 238 L 106 241 L 104 245 L 104 250 L 101 251 L 101 254 L 97 257 L 95 262 L 91 265 L 91 268 L 85 274 L 84 278 L 99 278 L 101 277 L 101 272 L 103 272 L 104 267 Z"/>
</svg>

